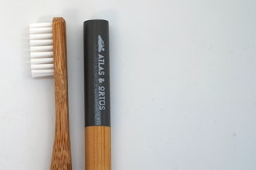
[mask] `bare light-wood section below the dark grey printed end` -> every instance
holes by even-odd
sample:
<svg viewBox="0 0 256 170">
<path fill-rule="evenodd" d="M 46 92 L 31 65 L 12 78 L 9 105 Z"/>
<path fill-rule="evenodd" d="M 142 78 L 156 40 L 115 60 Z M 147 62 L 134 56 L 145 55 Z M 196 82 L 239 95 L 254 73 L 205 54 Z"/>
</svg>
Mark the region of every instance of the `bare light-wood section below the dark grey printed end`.
<svg viewBox="0 0 256 170">
<path fill-rule="evenodd" d="M 111 169 L 109 126 L 85 127 L 86 170 Z"/>
</svg>

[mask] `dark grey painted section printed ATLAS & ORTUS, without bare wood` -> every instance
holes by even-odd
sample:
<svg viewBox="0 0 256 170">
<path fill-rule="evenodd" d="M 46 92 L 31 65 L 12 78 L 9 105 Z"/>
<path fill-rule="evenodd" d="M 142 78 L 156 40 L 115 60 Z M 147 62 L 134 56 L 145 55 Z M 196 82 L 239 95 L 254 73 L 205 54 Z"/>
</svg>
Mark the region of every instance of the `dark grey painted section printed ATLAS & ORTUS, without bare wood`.
<svg viewBox="0 0 256 170">
<path fill-rule="evenodd" d="M 110 126 L 108 21 L 84 22 L 85 126 Z"/>
</svg>

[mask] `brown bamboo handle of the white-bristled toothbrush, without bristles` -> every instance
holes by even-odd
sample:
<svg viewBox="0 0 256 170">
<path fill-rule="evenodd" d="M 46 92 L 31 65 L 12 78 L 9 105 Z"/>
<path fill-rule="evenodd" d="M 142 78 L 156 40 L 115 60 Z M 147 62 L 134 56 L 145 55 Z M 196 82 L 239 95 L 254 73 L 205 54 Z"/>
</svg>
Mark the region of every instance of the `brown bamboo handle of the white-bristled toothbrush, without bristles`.
<svg viewBox="0 0 256 170">
<path fill-rule="evenodd" d="M 55 70 L 55 141 L 51 170 L 71 170 L 66 22 L 64 19 L 54 18 L 52 20 L 52 37 Z"/>
</svg>

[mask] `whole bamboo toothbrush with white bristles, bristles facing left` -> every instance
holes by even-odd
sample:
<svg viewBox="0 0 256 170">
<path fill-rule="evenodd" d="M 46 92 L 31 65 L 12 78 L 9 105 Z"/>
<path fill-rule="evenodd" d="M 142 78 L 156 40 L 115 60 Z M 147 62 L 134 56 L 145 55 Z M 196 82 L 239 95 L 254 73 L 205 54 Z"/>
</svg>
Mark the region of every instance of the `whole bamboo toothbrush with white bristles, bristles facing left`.
<svg viewBox="0 0 256 170">
<path fill-rule="evenodd" d="M 55 140 L 50 169 L 71 170 L 65 19 L 30 24 L 30 58 L 33 77 L 55 78 Z"/>
</svg>

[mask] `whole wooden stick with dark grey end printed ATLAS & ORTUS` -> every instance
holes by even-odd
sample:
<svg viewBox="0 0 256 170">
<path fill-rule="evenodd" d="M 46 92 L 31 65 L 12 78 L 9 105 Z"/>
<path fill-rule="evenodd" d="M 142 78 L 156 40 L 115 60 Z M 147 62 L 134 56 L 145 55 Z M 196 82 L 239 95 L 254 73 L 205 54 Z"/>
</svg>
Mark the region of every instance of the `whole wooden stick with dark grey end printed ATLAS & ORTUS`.
<svg viewBox="0 0 256 170">
<path fill-rule="evenodd" d="M 87 170 L 111 169 L 108 21 L 84 22 Z"/>
</svg>

